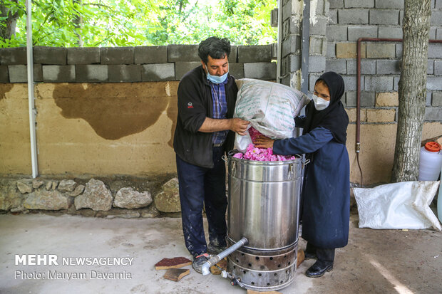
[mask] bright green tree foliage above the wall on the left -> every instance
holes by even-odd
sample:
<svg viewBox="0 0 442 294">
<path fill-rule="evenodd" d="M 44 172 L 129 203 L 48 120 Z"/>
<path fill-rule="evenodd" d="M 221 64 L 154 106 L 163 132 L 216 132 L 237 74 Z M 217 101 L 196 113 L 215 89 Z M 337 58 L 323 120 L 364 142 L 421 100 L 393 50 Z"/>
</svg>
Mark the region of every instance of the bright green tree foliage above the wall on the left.
<svg viewBox="0 0 442 294">
<path fill-rule="evenodd" d="M 0 47 L 26 46 L 25 0 L 1 0 L 20 11 L 16 34 Z M 196 44 L 209 36 L 236 45 L 274 43 L 276 0 L 35 0 L 34 46 L 160 46 Z M 4 19 L 0 19 L 4 26 Z"/>
</svg>

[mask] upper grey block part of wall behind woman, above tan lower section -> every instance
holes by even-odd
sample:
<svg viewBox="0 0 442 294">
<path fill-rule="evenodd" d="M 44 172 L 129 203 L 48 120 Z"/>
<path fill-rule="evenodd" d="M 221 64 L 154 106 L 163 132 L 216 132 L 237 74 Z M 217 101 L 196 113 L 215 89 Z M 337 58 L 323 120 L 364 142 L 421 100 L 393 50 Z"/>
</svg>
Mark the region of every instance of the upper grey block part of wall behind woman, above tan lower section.
<svg viewBox="0 0 442 294">
<path fill-rule="evenodd" d="M 431 10 L 429 38 L 442 39 L 442 0 L 431 1 Z M 344 76 L 346 107 L 356 107 L 356 41 L 361 37 L 402 38 L 403 17 L 404 0 L 329 0 L 326 70 Z M 378 98 L 398 90 L 401 56 L 401 43 L 361 43 L 361 106 L 366 108 L 362 123 L 397 121 L 397 103 L 385 105 Z M 430 43 L 426 121 L 442 120 L 441 59 L 442 44 Z"/>
</svg>

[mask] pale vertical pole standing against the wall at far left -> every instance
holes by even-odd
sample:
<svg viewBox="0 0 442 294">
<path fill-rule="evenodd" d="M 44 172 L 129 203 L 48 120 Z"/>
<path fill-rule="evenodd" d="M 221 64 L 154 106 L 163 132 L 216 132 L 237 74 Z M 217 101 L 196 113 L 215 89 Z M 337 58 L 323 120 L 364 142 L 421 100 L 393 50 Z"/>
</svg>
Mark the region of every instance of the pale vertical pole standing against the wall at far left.
<svg viewBox="0 0 442 294">
<path fill-rule="evenodd" d="M 31 135 L 32 177 L 38 176 L 37 140 L 36 140 L 36 109 L 34 103 L 34 58 L 32 56 L 32 4 L 26 0 L 26 60 L 28 69 L 28 103 L 29 103 L 29 132 Z"/>
</svg>

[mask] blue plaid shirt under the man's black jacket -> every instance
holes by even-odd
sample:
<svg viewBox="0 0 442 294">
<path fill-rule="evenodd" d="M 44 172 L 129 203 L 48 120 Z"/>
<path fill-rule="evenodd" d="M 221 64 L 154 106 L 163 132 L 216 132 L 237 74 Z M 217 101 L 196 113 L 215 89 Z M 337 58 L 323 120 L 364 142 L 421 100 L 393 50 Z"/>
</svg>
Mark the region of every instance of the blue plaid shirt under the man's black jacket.
<svg viewBox="0 0 442 294">
<path fill-rule="evenodd" d="M 223 119 L 227 117 L 227 100 L 225 98 L 225 84 L 227 78 L 220 84 L 214 84 L 209 81 L 212 90 L 212 118 Z M 212 136 L 213 144 L 221 144 L 225 141 L 229 131 L 214 132 Z"/>
</svg>

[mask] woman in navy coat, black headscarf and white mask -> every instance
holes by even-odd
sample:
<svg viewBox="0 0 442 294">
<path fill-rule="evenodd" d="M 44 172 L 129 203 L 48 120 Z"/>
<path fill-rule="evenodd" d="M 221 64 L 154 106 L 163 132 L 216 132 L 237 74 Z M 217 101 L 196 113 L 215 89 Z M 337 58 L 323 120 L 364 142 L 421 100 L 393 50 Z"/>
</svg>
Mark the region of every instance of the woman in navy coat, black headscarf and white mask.
<svg viewBox="0 0 442 294">
<path fill-rule="evenodd" d="M 307 115 L 296 117 L 302 136 L 271 140 L 259 137 L 255 147 L 273 147 L 274 154 L 305 153 L 310 163 L 302 188 L 302 238 L 307 241 L 306 258 L 317 258 L 307 271 L 310 278 L 332 271 L 334 249 L 349 238 L 349 154 L 345 147 L 349 117 L 341 103 L 344 80 L 334 72 L 324 73 L 314 85 Z"/>
</svg>

